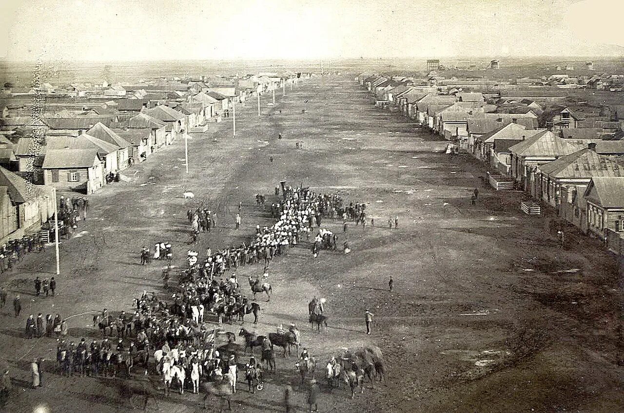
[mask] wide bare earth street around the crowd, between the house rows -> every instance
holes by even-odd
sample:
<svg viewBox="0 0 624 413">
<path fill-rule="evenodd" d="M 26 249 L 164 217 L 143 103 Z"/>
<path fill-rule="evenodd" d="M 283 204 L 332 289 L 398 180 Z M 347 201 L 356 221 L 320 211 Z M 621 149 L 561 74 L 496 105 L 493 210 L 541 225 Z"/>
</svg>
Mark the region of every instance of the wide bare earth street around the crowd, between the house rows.
<svg viewBox="0 0 624 413">
<path fill-rule="evenodd" d="M 32 295 L 32 278 L 51 276 L 54 249 L 30 255 L 3 278 L 12 293 L 21 293 L 24 305 L 22 316 L 13 318 L 9 296 L 1 315 L 0 350 L 18 384 L 6 412 L 29 412 L 39 404 L 67 413 L 139 408 L 139 397 L 120 402 L 109 379 L 61 377 L 52 372 L 53 362 L 46 364 L 45 387 L 28 389 L 32 357 L 53 360 L 56 343 L 24 339 L 26 316 L 130 310 L 142 290 L 161 291 L 162 263 L 140 266 L 142 245 L 171 240 L 174 263 L 183 266 L 185 211 L 201 202 L 218 211 L 220 228 L 202 234 L 195 249 L 240 244 L 256 223 L 271 223 L 266 212 L 256 209 L 253 195 L 264 193 L 273 201 L 273 188 L 282 179 L 366 201 L 376 221 L 364 229 L 350 225 L 352 254 L 323 251 L 314 259 L 303 243 L 274 260 L 270 281 L 275 295 L 269 303 L 258 296 L 258 333 L 296 323 L 305 345 L 321 361 L 343 346 L 374 343 L 383 349 L 386 382 L 374 389 L 367 384 L 354 401 L 344 386 L 324 391 L 321 411 L 624 409 L 617 364 L 618 265 L 598 242 L 570 233 L 562 249 L 547 232 L 547 218 L 517 211 L 524 194 L 495 193 L 484 186 L 483 171 L 472 159 L 434 153 L 444 143 L 394 113 L 375 110 L 349 78 L 311 80 L 287 90 L 286 97 L 280 93 L 275 107 L 266 102 L 263 98 L 260 123 L 255 102 L 236 108 L 236 138 L 231 119 L 194 135 L 189 174 L 183 168 L 183 142 L 177 141 L 128 171 L 131 182 L 92 196 L 89 220 L 61 247 L 58 297 Z M 295 149 L 297 141 L 303 141 L 303 150 Z M 480 196 L 471 206 L 474 188 Z M 195 199 L 182 199 L 186 190 Z M 236 231 L 240 201 L 243 225 Z M 388 229 L 389 216 L 399 216 L 399 229 Z M 341 222 L 328 226 L 342 242 Z M 572 268 L 579 271 L 562 272 Z M 238 275 L 244 279 L 261 271 L 261 266 L 248 266 Z M 386 290 L 389 275 L 393 293 Z M 330 326 L 320 334 L 306 324 L 306 304 L 313 295 L 328 299 Z M 363 333 L 366 308 L 375 313 L 371 336 Z M 98 336 L 90 315 L 71 318 L 69 325 L 76 341 Z M 269 376 L 268 386 L 255 395 L 240 383 L 233 410 L 283 411 L 281 386 L 295 378 L 294 361 L 278 359 L 278 374 Z M 198 412 L 202 397 L 160 392 L 147 409 Z M 295 400 L 303 409 L 303 389 L 296 388 Z"/>
</svg>

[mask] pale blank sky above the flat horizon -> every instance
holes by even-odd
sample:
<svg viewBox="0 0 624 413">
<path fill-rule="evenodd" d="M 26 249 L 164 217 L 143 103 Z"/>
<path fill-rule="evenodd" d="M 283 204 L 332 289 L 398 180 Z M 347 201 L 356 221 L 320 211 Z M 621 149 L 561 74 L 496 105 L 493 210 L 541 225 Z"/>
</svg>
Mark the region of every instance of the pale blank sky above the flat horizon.
<svg viewBox="0 0 624 413">
<path fill-rule="evenodd" d="M 624 55 L 624 0 L 3 0 L 8 60 Z"/>
</svg>

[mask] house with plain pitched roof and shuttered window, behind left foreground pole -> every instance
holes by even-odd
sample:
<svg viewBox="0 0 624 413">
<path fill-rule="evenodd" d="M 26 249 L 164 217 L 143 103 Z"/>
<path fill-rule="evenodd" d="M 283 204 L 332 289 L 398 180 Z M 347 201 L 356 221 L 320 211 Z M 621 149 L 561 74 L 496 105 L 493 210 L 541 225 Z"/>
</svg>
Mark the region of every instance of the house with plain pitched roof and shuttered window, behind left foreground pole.
<svg viewBox="0 0 624 413">
<path fill-rule="evenodd" d="M 78 191 L 92 194 L 105 183 L 104 163 L 94 148 L 48 149 L 42 169 L 44 184 L 61 191 Z"/>
</svg>

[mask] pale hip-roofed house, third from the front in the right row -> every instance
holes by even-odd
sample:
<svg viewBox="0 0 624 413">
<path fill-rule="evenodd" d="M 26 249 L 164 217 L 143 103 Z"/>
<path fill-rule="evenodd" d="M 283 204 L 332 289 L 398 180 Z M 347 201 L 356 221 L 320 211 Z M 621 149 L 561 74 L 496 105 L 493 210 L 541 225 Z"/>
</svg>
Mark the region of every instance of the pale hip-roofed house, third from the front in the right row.
<svg viewBox="0 0 624 413">
<path fill-rule="evenodd" d="M 519 188 L 530 191 L 535 197 L 535 174 L 543 164 L 575 153 L 587 146 L 582 140 L 563 139 L 544 130 L 510 146 L 511 174 Z"/>
</svg>

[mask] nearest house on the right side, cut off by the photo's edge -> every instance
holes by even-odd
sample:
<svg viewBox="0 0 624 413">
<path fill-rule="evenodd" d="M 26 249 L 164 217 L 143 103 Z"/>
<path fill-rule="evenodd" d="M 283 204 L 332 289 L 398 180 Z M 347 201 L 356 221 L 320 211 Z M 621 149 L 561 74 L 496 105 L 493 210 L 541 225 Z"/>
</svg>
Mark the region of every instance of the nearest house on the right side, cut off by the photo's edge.
<svg viewBox="0 0 624 413">
<path fill-rule="evenodd" d="M 624 231 L 624 178 L 597 176 L 583 194 L 587 201 L 587 228 L 601 239 L 605 231 Z"/>
</svg>

